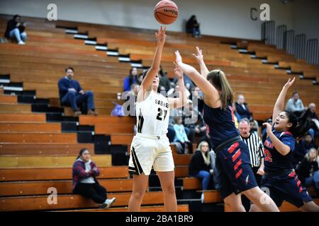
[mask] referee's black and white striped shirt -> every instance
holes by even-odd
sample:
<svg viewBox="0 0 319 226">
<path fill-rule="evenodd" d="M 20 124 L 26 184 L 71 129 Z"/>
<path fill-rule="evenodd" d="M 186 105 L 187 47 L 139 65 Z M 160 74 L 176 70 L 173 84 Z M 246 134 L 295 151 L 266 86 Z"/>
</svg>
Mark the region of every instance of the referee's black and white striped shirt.
<svg viewBox="0 0 319 226">
<path fill-rule="evenodd" d="M 262 157 L 264 157 L 264 145 L 262 145 L 262 139 L 254 133 L 250 133 L 250 136 L 247 138 L 240 137 L 250 150 L 250 162 L 252 163 L 252 167 L 259 167 Z"/>
</svg>

